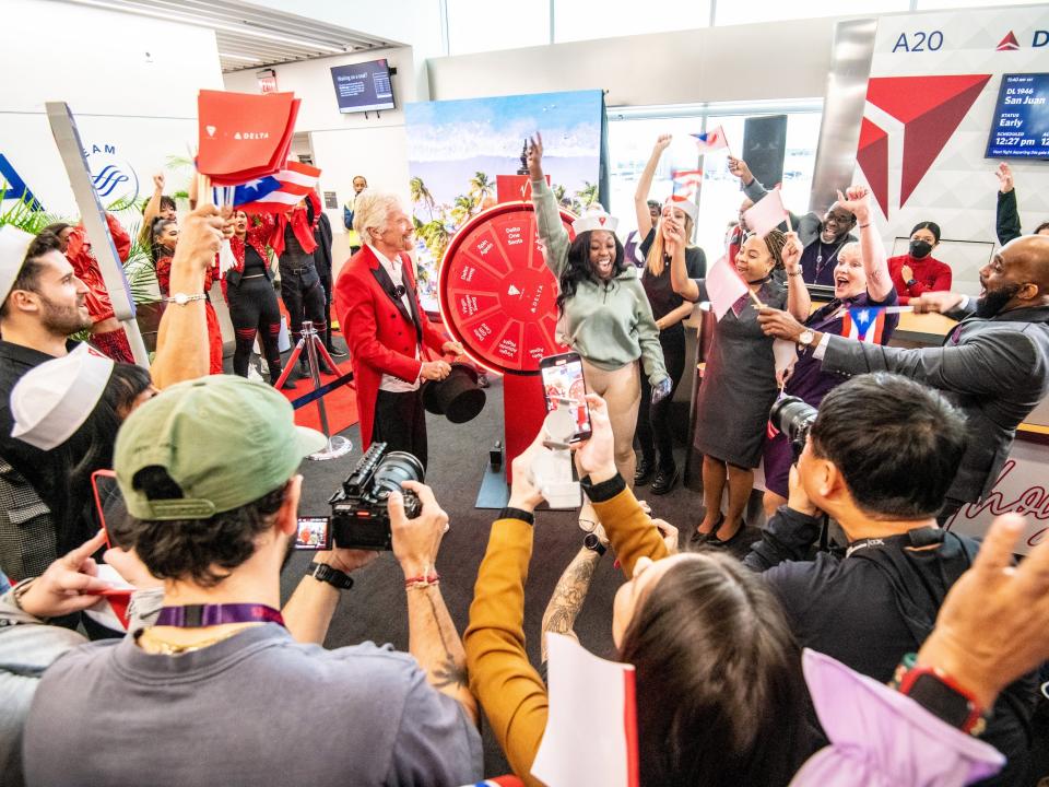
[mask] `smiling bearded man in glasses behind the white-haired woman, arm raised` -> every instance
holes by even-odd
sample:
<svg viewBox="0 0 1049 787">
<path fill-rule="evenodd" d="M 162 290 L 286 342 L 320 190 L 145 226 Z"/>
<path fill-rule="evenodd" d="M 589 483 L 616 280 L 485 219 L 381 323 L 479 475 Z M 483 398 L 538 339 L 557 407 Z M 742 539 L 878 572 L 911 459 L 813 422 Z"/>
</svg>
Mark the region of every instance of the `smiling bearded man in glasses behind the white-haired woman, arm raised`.
<svg viewBox="0 0 1049 787">
<path fill-rule="evenodd" d="M 746 195 L 746 200 L 740 207 L 741 226 L 743 226 L 743 211 L 750 208 L 747 200 L 752 203 L 761 202 L 768 190 L 754 177 L 742 158 L 730 156 L 729 172 L 740 178 L 740 183 L 743 184 L 743 193 Z M 806 284 L 834 286 L 834 269 L 838 265 L 838 252 L 847 243 L 854 243 L 858 239 L 851 234 L 852 227 L 856 226 L 856 216 L 835 202 L 827 208 L 823 218 L 817 213 L 805 213 L 803 216 L 791 213 L 790 222 L 805 247 L 801 255 L 802 279 Z M 743 226 L 743 228 L 746 227 Z M 786 231 L 787 227 L 780 224 L 780 228 Z"/>
</svg>

